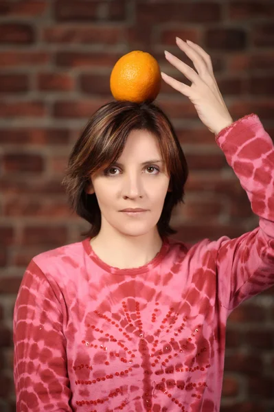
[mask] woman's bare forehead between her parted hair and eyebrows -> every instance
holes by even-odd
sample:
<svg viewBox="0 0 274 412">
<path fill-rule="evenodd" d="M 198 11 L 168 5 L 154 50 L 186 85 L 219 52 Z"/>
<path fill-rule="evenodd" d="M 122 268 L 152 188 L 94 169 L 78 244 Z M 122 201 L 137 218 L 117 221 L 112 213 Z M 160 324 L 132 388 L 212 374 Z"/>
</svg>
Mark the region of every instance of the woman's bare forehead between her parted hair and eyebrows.
<svg viewBox="0 0 274 412">
<path fill-rule="evenodd" d="M 161 159 L 161 151 L 157 137 L 148 130 L 131 130 L 119 159 L 125 160 L 128 157 L 135 157 L 137 160 L 144 159 L 148 156 Z"/>
</svg>

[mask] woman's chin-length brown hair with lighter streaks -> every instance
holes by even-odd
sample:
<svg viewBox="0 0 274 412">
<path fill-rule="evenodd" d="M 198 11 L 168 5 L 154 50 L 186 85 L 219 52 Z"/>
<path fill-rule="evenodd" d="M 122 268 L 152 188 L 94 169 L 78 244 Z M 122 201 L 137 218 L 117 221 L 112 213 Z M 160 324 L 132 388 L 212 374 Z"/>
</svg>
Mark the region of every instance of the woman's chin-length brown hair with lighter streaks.
<svg viewBox="0 0 274 412">
<path fill-rule="evenodd" d="M 95 194 L 87 194 L 90 175 L 115 163 L 122 155 L 131 130 L 148 130 L 157 137 L 165 167 L 170 176 L 170 190 L 157 222 L 160 236 L 176 233 L 170 227 L 174 206 L 183 201 L 188 167 L 185 155 L 170 120 L 155 104 L 128 101 L 109 102 L 96 111 L 76 141 L 65 172 L 65 186 L 71 209 L 91 223 L 82 236 L 96 236 L 101 227 L 101 212 Z"/>
</svg>

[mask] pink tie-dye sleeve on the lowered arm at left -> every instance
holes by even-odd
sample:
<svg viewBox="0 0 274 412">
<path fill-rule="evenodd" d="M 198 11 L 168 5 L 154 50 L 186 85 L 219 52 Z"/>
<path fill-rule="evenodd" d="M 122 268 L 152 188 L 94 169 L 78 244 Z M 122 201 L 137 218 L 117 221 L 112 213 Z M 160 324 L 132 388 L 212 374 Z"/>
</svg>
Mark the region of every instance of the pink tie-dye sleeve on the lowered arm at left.
<svg viewBox="0 0 274 412">
<path fill-rule="evenodd" d="M 16 411 L 71 412 L 66 339 L 56 290 L 32 260 L 14 306 Z"/>
</svg>

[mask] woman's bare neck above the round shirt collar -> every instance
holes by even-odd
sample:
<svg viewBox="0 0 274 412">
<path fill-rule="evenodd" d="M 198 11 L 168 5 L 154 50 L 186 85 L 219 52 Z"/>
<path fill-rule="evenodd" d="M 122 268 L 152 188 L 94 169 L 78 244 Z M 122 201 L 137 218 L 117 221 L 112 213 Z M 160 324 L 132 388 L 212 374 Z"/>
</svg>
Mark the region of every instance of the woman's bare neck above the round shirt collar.
<svg viewBox="0 0 274 412">
<path fill-rule="evenodd" d="M 116 268 L 137 268 L 150 262 L 160 251 L 163 241 L 157 227 L 141 236 L 127 236 L 113 228 L 101 227 L 91 239 L 91 247 L 98 257 Z"/>
</svg>

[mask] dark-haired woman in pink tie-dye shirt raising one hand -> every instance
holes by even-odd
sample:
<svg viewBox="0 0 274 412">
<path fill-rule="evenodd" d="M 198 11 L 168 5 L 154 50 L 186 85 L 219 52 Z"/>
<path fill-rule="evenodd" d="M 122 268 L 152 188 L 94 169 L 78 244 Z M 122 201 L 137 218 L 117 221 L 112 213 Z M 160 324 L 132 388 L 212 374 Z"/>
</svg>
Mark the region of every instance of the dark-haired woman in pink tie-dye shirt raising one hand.
<svg viewBox="0 0 274 412">
<path fill-rule="evenodd" d="M 170 122 L 153 104 L 100 108 L 64 181 L 91 230 L 35 256 L 16 299 L 17 411 L 218 411 L 227 317 L 274 284 L 271 138 L 257 115 L 233 122 L 209 56 L 176 42 L 196 71 L 166 58 L 192 85 L 163 80 L 214 133 L 260 225 L 192 246 L 169 238 L 187 180 Z"/>
</svg>

